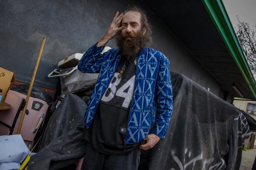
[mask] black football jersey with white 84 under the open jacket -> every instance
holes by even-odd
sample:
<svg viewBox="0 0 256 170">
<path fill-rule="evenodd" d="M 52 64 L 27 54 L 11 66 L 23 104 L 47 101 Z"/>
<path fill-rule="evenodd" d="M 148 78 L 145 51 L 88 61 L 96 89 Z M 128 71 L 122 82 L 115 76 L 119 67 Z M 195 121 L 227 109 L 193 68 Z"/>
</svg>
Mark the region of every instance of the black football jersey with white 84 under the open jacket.
<svg viewBox="0 0 256 170">
<path fill-rule="evenodd" d="M 122 77 L 118 75 L 125 61 L 121 60 L 97 108 L 91 135 L 91 146 L 111 155 L 129 154 L 138 144 L 126 145 L 124 139 L 133 97 L 137 59 L 126 60 Z"/>
</svg>

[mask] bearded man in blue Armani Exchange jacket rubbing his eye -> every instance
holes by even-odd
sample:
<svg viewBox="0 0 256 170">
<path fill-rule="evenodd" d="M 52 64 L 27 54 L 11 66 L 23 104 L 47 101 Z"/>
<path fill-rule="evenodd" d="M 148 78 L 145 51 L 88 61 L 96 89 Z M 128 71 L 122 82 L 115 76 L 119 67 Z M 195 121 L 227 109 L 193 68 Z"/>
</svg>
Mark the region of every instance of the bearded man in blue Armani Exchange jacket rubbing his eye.
<svg viewBox="0 0 256 170">
<path fill-rule="evenodd" d="M 101 54 L 114 37 L 118 48 Z M 90 137 L 83 169 L 137 169 L 139 149 L 165 138 L 173 111 L 170 63 L 146 47 L 150 41 L 145 11 L 128 7 L 79 61 L 83 73 L 99 73 L 84 117 Z"/>
</svg>

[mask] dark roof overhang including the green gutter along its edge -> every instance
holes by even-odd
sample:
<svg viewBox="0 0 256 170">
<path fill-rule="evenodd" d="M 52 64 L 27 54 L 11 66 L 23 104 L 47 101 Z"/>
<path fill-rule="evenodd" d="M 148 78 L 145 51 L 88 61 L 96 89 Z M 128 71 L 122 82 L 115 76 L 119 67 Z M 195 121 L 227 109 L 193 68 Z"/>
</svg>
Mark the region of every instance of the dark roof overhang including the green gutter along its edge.
<svg viewBox="0 0 256 170">
<path fill-rule="evenodd" d="M 256 87 L 221 0 L 142 0 L 223 90 L 255 100 Z M 168 54 L 166 54 L 168 55 Z"/>
</svg>

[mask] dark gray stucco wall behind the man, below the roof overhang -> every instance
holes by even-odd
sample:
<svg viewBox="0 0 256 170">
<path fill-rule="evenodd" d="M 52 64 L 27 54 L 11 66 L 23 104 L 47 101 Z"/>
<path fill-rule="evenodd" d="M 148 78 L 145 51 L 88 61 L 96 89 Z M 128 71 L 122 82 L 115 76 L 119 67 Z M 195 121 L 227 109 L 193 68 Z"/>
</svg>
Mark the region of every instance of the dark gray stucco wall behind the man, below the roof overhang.
<svg viewBox="0 0 256 170">
<path fill-rule="evenodd" d="M 144 8 L 153 26 L 155 48 L 170 59 L 170 69 L 182 73 L 219 95 L 220 85 L 193 57 L 142 1 L 0 1 L 0 67 L 15 73 L 16 79 L 30 82 L 43 37 L 46 43 L 34 84 L 54 89 L 57 78 L 47 75 L 58 62 L 83 53 L 105 34 L 116 11 L 128 4 Z M 114 48 L 114 41 L 108 46 Z"/>
</svg>

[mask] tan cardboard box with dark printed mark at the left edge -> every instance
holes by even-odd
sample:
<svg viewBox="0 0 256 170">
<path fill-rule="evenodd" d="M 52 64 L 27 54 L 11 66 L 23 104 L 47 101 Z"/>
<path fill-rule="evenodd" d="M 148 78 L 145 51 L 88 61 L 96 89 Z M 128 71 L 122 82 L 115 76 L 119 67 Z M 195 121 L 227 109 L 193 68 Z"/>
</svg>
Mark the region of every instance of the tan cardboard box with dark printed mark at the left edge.
<svg viewBox="0 0 256 170">
<path fill-rule="evenodd" d="M 0 67 L 0 88 L 3 90 L 2 92 L 3 96 L 1 101 L 5 99 L 5 94 L 7 93 L 8 88 L 11 85 L 11 82 L 14 82 L 14 81 L 15 81 L 14 73 Z"/>
</svg>

